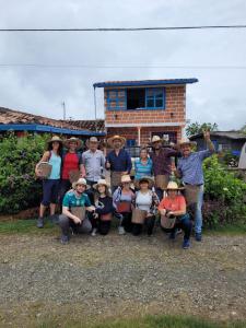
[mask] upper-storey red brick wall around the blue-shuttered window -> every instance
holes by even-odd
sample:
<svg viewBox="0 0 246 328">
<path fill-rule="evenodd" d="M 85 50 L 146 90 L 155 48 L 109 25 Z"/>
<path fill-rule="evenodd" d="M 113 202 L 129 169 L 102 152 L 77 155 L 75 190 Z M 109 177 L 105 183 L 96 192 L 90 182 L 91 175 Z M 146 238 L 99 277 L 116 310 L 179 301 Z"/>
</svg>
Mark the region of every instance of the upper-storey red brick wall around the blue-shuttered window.
<svg viewBox="0 0 246 328">
<path fill-rule="evenodd" d="M 107 89 L 109 90 L 109 89 Z M 184 85 L 166 86 L 165 110 L 105 110 L 106 124 L 184 122 L 186 120 Z M 106 108 L 105 92 L 105 108 Z"/>
</svg>

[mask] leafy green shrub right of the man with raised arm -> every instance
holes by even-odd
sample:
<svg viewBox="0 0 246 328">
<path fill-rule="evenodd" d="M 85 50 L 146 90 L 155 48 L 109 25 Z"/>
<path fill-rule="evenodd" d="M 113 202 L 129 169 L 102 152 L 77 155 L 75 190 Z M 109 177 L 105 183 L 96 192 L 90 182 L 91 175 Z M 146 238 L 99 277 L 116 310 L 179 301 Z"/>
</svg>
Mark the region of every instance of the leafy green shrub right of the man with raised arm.
<svg viewBox="0 0 246 328">
<path fill-rule="evenodd" d="M 204 224 L 246 222 L 246 184 L 226 171 L 216 155 L 207 159 L 204 169 Z"/>
</svg>

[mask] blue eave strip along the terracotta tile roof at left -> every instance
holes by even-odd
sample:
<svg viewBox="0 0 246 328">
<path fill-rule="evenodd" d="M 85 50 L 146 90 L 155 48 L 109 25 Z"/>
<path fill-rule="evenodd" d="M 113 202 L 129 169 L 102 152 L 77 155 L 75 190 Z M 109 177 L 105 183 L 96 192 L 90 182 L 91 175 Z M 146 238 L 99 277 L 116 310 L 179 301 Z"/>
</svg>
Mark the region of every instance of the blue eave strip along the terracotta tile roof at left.
<svg viewBox="0 0 246 328">
<path fill-rule="evenodd" d="M 106 136 L 105 132 L 86 131 L 86 130 L 71 130 L 65 128 L 57 128 L 44 125 L 0 125 L 0 131 L 34 131 L 34 132 L 49 132 L 61 134 L 74 134 L 74 136 Z"/>
</svg>

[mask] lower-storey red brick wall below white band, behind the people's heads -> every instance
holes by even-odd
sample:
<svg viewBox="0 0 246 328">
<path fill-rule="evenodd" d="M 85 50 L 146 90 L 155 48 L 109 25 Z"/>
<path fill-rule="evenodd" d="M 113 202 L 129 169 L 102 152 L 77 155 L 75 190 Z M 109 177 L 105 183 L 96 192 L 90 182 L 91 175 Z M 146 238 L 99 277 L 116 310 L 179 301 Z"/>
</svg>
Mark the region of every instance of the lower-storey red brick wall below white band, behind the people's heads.
<svg viewBox="0 0 246 328">
<path fill-rule="evenodd" d="M 181 127 L 143 127 L 141 128 L 141 139 L 140 144 L 147 145 L 153 133 L 165 133 L 165 132 L 176 132 L 177 141 L 181 138 Z M 136 139 L 136 144 L 138 144 L 138 128 L 107 128 L 107 138 L 119 134 L 126 139 Z"/>
</svg>

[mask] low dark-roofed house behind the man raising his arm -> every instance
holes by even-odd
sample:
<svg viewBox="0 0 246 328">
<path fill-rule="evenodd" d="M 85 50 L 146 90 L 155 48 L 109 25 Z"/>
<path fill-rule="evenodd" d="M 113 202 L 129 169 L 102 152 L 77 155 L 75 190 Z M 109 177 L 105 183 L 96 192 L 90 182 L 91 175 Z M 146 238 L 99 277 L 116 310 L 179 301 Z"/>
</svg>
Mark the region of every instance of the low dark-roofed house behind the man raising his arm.
<svg viewBox="0 0 246 328">
<path fill-rule="evenodd" d="M 218 152 L 230 151 L 233 155 L 239 155 L 246 142 L 246 134 L 237 131 L 211 131 L 210 134 Z M 206 149 L 202 133 L 191 136 L 189 139 L 197 142 L 198 150 Z"/>
</svg>

